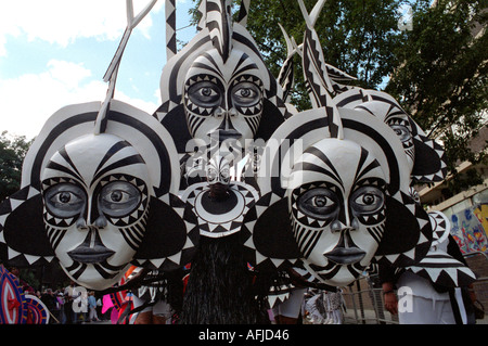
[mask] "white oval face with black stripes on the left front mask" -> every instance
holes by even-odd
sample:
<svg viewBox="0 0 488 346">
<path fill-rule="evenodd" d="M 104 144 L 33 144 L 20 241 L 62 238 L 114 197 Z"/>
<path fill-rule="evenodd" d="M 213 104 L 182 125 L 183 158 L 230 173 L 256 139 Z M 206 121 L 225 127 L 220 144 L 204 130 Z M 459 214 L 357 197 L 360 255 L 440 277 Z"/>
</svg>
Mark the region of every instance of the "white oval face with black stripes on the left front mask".
<svg viewBox="0 0 488 346">
<path fill-rule="evenodd" d="M 44 225 L 61 267 L 77 283 L 116 283 L 145 232 L 146 164 L 125 140 L 88 134 L 67 143 L 42 172 Z"/>
</svg>

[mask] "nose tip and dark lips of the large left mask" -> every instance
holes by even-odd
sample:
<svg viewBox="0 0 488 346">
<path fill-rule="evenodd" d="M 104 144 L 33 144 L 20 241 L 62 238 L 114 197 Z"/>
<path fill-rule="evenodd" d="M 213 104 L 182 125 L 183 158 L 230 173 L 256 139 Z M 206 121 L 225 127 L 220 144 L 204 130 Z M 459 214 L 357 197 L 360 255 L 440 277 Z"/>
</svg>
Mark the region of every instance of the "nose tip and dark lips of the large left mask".
<svg viewBox="0 0 488 346">
<path fill-rule="evenodd" d="M 90 228 L 85 241 L 67 254 L 75 261 L 92 265 L 103 262 L 115 252 L 103 245 L 97 228 Z"/>
</svg>

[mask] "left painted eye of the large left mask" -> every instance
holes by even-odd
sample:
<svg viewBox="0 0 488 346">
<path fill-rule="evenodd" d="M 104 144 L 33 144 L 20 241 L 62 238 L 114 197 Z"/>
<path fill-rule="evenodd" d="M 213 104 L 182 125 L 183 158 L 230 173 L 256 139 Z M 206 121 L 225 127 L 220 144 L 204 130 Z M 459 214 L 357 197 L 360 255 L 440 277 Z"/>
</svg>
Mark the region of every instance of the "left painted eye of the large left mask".
<svg viewBox="0 0 488 346">
<path fill-rule="evenodd" d="M 61 218 L 79 215 L 85 208 L 86 201 L 84 190 L 72 183 L 53 185 L 44 193 L 44 204 L 49 213 Z"/>
</svg>

